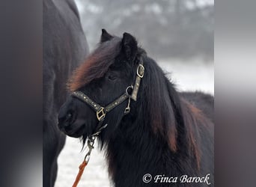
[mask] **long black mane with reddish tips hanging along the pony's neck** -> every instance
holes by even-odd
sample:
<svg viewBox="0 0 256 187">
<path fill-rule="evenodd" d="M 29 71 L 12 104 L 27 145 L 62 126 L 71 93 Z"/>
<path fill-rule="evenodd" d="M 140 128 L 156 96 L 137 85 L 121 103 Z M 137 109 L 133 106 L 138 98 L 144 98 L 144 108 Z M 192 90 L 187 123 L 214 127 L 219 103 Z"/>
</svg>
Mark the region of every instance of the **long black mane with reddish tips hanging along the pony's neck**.
<svg viewBox="0 0 256 187">
<path fill-rule="evenodd" d="M 144 58 L 143 91 L 144 116 L 156 135 L 168 142 L 173 153 L 184 151 L 194 156 L 198 168 L 201 153 L 198 148 L 198 129 L 204 117 L 198 108 L 186 102 L 175 90 L 162 69 L 151 58 Z M 198 127 L 199 125 L 199 127 Z"/>
</svg>

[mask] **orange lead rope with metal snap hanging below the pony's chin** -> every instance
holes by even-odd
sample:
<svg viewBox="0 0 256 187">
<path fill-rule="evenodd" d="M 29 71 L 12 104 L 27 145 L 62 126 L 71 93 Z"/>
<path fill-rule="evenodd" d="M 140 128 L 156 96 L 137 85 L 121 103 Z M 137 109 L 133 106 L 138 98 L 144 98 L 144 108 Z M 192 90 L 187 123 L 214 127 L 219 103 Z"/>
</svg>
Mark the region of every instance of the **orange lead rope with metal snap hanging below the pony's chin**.
<svg viewBox="0 0 256 187">
<path fill-rule="evenodd" d="M 73 187 L 76 187 L 78 185 L 79 181 L 81 180 L 82 174 L 84 173 L 85 167 L 86 167 L 86 165 L 88 165 L 88 162 L 89 162 L 90 156 L 91 156 L 91 150 L 94 149 L 95 138 L 96 138 L 95 135 L 88 138 L 87 146 L 88 146 L 89 150 L 88 150 L 88 153 L 85 155 L 84 161 L 82 162 L 81 165 L 79 165 L 79 173 L 76 176 L 76 180 L 73 183 Z"/>
</svg>

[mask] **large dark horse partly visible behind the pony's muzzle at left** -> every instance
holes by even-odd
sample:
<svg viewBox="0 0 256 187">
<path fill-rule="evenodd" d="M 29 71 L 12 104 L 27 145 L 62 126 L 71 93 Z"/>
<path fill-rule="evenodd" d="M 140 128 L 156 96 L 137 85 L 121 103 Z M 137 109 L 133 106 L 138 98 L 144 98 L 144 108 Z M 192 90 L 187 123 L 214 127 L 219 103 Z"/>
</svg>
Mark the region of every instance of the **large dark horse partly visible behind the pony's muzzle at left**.
<svg viewBox="0 0 256 187">
<path fill-rule="evenodd" d="M 65 135 L 58 110 L 67 99 L 67 79 L 88 55 L 88 43 L 73 0 L 43 1 L 43 186 L 54 186 Z"/>
</svg>

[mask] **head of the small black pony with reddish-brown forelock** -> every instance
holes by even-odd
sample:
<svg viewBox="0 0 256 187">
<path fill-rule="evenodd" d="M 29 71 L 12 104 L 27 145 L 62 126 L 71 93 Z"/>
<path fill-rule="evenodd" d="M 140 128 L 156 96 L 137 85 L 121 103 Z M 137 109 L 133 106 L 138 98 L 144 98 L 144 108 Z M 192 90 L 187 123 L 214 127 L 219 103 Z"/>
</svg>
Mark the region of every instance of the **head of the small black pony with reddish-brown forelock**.
<svg viewBox="0 0 256 187">
<path fill-rule="evenodd" d="M 130 92 L 127 88 L 134 85 L 143 53 L 131 34 L 115 37 L 103 29 L 99 46 L 74 71 L 68 88 L 71 92 L 84 93 L 95 104 L 106 106 Z M 108 128 L 104 129 L 103 135 L 109 137 L 115 131 L 125 115 L 128 102 L 129 99 L 126 99 L 106 114 L 104 123 L 108 124 Z M 131 107 L 134 105 L 135 102 L 132 102 Z M 59 111 L 58 122 L 59 128 L 67 135 L 86 138 L 92 135 L 99 121 L 90 105 L 76 96 L 70 96 Z"/>
</svg>

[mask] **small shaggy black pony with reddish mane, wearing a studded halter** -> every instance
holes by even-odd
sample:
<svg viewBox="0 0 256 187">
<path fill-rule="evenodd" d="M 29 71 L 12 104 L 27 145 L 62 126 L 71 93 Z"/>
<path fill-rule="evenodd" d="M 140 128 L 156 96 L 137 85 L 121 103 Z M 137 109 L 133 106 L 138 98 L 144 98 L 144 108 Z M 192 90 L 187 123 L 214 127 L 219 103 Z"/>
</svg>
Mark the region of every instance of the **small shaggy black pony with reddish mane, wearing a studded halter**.
<svg viewBox="0 0 256 187">
<path fill-rule="evenodd" d="M 124 114 L 136 86 L 137 98 Z M 115 105 L 105 108 L 108 126 L 99 135 L 115 186 L 213 186 L 213 96 L 178 93 L 132 35 L 115 37 L 103 29 L 100 45 L 74 72 L 69 88 L 75 92 L 61 107 L 58 125 L 84 142 L 103 116 L 97 108 Z M 122 96 L 127 99 L 115 101 Z M 207 174 L 202 183 L 191 178 Z"/>
</svg>

